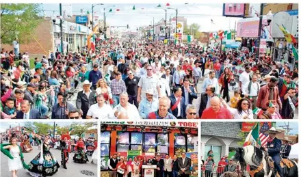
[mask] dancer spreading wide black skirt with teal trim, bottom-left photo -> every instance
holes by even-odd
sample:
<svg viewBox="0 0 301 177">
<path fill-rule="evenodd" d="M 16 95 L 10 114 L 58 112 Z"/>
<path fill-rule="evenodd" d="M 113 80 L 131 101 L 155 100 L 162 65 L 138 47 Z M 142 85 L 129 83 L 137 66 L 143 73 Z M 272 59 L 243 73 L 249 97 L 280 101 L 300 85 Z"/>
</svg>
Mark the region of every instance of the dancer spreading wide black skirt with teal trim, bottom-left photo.
<svg viewBox="0 0 301 177">
<path fill-rule="evenodd" d="M 29 163 L 29 174 L 34 177 L 52 176 L 60 168 L 59 163 L 53 156 L 50 150 L 50 137 L 38 137 L 38 143 L 41 144 L 41 150 L 39 154 Z"/>
</svg>

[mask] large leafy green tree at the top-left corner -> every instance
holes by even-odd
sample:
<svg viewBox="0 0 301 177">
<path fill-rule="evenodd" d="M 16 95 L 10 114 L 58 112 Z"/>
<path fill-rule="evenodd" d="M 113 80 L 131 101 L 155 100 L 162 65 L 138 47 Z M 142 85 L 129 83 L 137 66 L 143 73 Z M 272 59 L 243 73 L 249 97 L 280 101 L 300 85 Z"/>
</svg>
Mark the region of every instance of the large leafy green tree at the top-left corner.
<svg viewBox="0 0 301 177">
<path fill-rule="evenodd" d="M 1 43 L 12 44 L 14 38 L 21 43 L 30 42 L 34 29 L 42 21 L 38 16 L 41 7 L 38 3 L 2 3 Z"/>
</svg>

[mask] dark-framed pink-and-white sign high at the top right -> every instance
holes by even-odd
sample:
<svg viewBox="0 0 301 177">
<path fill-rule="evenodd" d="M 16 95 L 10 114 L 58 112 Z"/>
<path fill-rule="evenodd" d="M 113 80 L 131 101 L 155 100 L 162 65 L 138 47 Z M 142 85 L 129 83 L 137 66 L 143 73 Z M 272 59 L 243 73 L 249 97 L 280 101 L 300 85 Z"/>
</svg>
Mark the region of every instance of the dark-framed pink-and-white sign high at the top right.
<svg viewBox="0 0 301 177">
<path fill-rule="evenodd" d="M 244 3 L 224 3 L 222 16 L 244 17 L 245 7 Z"/>
</svg>

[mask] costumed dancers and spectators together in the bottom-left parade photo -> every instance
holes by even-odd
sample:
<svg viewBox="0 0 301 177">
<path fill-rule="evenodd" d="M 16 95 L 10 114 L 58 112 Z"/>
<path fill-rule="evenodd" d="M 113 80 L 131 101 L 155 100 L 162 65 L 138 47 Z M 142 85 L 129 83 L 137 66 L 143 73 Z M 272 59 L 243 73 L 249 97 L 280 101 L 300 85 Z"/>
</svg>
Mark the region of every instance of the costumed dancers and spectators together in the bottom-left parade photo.
<svg viewBox="0 0 301 177">
<path fill-rule="evenodd" d="M 4 141 L 7 141 L 7 143 Z M 20 145 L 18 145 L 18 141 L 21 141 Z M 60 145 L 55 147 L 57 141 L 60 142 Z M 38 146 L 40 152 L 27 164 L 23 152 L 32 152 L 33 148 L 31 146 Z M 12 177 L 16 177 L 18 169 L 27 169 L 31 176 L 53 176 L 61 165 L 64 169 L 67 169 L 71 152 L 75 152 L 73 156 L 75 163 L 87 163 L 89 160 L 86 147 L 88 146 L 90 144 L 88 144 L 87 140 L 84 141 L 82 137 L 79 137 L 77 140 L 71 139 L 69 134 L 63 134 L 54 138 L 37 133 L 24 133 L 21 136 L 17 136 L 12 131 L 11 135 L 1 135 L 1 152 L 9 158 L 8 167 L 9 171 L 12 172 Z M 94 163 L 98 159 L 97 141 L 94 141 L 92 146 L 94 146 L 94 152 L 91 163 Z M 55 159 L 51 148 L 61 151 L 60 163 Z"/>
</svg>

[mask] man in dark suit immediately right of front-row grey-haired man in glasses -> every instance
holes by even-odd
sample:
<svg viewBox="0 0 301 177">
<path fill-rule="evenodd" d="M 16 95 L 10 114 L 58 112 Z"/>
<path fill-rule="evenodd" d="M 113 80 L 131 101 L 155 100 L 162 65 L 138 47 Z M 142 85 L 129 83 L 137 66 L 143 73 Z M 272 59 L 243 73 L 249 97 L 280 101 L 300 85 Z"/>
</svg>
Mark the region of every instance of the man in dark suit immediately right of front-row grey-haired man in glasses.
<svg viewBox="0 0 301 177">
<path fill-rule="evenodd" d="M 185 113 L 185 99 L 182 96 L 181 87 L 174 87 L 173 93 L 170 98 L 170 110 L 169 112 L 177 119 L 184 119 Z"/>
</svg>

